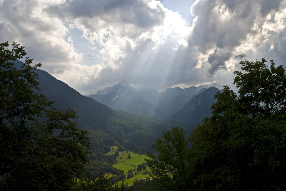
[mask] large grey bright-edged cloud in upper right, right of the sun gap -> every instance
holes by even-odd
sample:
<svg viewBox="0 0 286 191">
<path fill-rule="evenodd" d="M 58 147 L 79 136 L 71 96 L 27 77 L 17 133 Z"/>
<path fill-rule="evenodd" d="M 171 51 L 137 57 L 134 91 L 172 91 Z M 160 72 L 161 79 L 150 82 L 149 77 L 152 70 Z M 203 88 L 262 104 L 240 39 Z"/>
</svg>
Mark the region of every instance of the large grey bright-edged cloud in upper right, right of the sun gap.
<svg viewBox="0 0 286 191">
<path fill-rule="evenodd" d="M 188 43 L 198 47 L 201 54 L 198 68 L 209 64 L 208 75 L 212 76 L 233 69 L 235 65 L 229 60 L 258 54 L 267 41 L 274 46 L 270 39 L 285 27 L 285 3 L 281 2 L 196 1 L 191 11 L 196 19 Z M 276 19 L 270 19 L 277 14 Z"/>
</svg>

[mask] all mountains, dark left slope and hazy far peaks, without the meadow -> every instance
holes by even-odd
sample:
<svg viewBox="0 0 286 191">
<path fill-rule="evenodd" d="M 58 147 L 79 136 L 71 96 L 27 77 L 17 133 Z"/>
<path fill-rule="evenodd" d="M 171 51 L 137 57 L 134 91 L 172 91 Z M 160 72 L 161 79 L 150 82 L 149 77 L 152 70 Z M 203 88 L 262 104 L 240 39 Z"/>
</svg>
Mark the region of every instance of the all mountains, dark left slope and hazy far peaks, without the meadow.
<svg viewBox="0 0 286 191">
<path fill-rule="evenodd" d="M 22 64 L 21 61 L 15 61 L 17 68 L 20 68 Z M 137 152 L 140 150 L 142 152 L 152 151 L 152 144 L 161 136 L 162 131 L 170 130 L 172 126 L 180 126 L 186 130 L 186 134 L 190 133 L 204 116 L 210 116 L 210 104 L 214 101 L 214 92 L 218 91 L 215 88 L 206 89 L 208 86 L 202 86 L 190 87 L 189 89 L 171 88 L 164 93 L 158 93 L 154 90 L 135 90 L 126 81 L 123 81 L 117 86 L 99 91 L 100 94 L 96 95 L 101 96 L 103 100 L 109 100 L 109 102 L 116 100 L 118 105 L 126 104 L 126 110 L 133 107 L 134 112 L 137 112 L 140 108 L 140 114 L 146 112 L 153 118 L 165 119 L 159 121 L 144 115 L 112 109 L 91 97 L 81 95 L 66 83 L 55 79 L 43 70 L 36 69 L 36 72 L 39 75 L 40 93 L 47 96 L 49 100 L 53 100 L 52 106 L 57 109 L 71 108 L 77 111 L 76 115 L 79 118 L 75 119 L 75 122 L 77 122 L 80 129 L 89 128 L 98 135 L 105 134 L 102 138 L 105 145 L 115 145 L 115 142 L 117 142 L 126 149 Z M 197 90 L 190 91 L 190 89 Z M 183 94 L 180 92 L 183 92 Z M 184 107 L 190 102 L 189 99 L 193 101 L 196 108 L 190 110 Z M 185 109 L 197 115 L 185 112 L 185 115 L 180 118 L 170 115 L 166 111 L 162 112 L 163 104 L 158 104 L 158 107 L 153 104 L 164 101 L 168 103 L 166 108 L 171 108 L 170 110 L 173 112 L 176 110 L 183 112 Z M 106 101 L 107 103 L 108 101 Z M 182 103 L 186 104 L 183 105 Z M 206 114 L 202 110 L 209 113 Z M 202 115 L 199 113 L 202 113 Z"/>
</svg>

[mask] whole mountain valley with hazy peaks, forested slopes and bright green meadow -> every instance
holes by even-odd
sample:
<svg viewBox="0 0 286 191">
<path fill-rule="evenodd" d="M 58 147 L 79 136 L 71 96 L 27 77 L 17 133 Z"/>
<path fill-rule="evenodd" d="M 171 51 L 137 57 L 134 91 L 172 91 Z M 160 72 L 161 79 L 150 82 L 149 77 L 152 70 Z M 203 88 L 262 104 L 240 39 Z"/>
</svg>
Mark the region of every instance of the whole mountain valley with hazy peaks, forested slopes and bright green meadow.
<svg viewBox="0 0 286 191">
<path fill-rule="evenodd" d="M 15 61 L 17 68 L 22 64 Z M 96 96 L 101 96 L 99 101 L 105 100 L 105 105 L 95 100 L 96 96 L 83 96 L 45 71 L 35 69 L 35 72 L 39 75 L 37 81 L 40 89 L 36 92 L 52 100 L 52 106 L 57 109 L 76 111 L 78 118 L 72 121 L 80 130 L 88 133 L 90 153 L 87 168 L 91 176 L 110 172 L 116 176 L 113 184 L 119 181 L 120 184 L 128 182 L 130 185 L 134 180 L 148 177 L 146 164 L 144 170 L 137 172 L 135 169 L 145 162 L 146 156 L 140 153 L 156 152 L 152 145 L 162 132 L 170 130 L 172 126 L 180 126 L 186 131 L 187 137 L 202 118 L 210 116 L 210 105 L 215 102 L 213 96 L 219 91 L 206 85 L 187 89 L 168 88 L 163 93 L 137 91 L 123 81 L 99 91 L 101 94 Z M 108 101 L 118 108 L 110 108 Z M 135 113 L 130 112 L 129 108 L 133 108 Z M 140 112 L 137 112 L 138 108 Z M 39 118 L 39 121 L 44 119 Z M 115 150 L 117 155 L 113 153 Z M 129 154 L 131 158 L 128 159 Z M 132 174 L 132 177 L 126 177 L 126 174 Z"/>
</svg>

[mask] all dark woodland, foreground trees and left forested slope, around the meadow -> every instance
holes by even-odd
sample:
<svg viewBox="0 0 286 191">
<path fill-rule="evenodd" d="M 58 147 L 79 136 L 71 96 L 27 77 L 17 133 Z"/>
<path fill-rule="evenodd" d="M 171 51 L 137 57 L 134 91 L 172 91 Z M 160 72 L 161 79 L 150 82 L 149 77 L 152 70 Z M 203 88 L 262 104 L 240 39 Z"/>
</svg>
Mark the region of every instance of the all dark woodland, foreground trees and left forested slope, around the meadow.
<svg viewBox="0 0 286 191">
<path fill-rule="evenodd" d="M 82 98 L 40 63 L 19 62 L 25 48 L 12 46 L 0 45 L 2 190 L 286 190 L 283 65 L 241 61 L 238 95 L 224 86 L 212 116 L 191 132 Z M 137 170 L 148 165 L 150 179 L 112 186 L 125 175 L 112 166 L 118 152 L 105 155 L 111 145 L 149 152 Z"/>
</svg>

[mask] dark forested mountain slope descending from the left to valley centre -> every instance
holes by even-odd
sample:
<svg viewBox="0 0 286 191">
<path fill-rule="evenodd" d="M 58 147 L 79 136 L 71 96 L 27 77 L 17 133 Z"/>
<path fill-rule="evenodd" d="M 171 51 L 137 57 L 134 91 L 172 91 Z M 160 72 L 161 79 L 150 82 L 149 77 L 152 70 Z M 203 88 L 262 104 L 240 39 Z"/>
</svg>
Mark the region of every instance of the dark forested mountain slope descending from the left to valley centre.
<svg viewBox="0 0 286 191">
<path fill-rule="evenodd" d="M 15 61 L 19 69 L 23 62 Z M 180 122 L 158 122 L 143 115 L 114 110 L 93 98 L 81 95 L 66 83 L 55 79 L 49 73 L 36 69 L 39 79 L 39 88 L 43 95 L 53 100 L 52 106 L 57 109 L 72 109 L 77 111 L 74 119 L 80 129 L 92 129 L 96 134 L 106 134 L 104 143 L 114 145 L 115 141 L 126 149 L 139 152 L 152 151 L 152 144 L 161 135 L 162 131 L 170 130 L 174 125 L 182 126 L 190 131 L 189 125 Z M 41 120 L 41 119 L 39 119 Z"/>
</svg>

